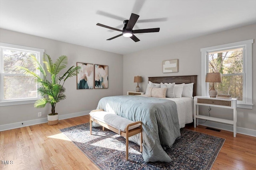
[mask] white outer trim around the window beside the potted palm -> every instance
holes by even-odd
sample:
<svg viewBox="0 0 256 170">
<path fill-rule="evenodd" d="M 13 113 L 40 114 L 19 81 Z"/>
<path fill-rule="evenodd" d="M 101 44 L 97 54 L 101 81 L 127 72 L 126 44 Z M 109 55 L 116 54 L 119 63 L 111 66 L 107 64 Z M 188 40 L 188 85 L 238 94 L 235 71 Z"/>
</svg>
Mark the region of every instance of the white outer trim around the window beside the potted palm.
<svg viewBox="0 0 256 170">
<path fill-rule="evenodd" d="M 6 47 L 6 48 L 13 48 L 13 49 L 21 49 L 21 50 L 26 50 L 26 51 L 31 51 L 31 52 L 36 52 L 39 53 L 39 61 L 40 64 L 43 65 L 42 62 L 42 58 L 44 55 L 44 49 L 38 49 L 38 48 L 34 48 L 34 47 L 25 47 L 25 46 L 21 46 L 21 45 L 13 45 L 13 44 L 8 44 L 8 43 L 0 43 L 0 50 L 2 49 L 2 47 Z M 2 53 L 2 51 L 0 51 Z M 0 73 L 3 72 L 3 59 L 2 57 L 0 57 Z M 3 75 L 1 74 L 0 77 L 0 93 L 1 95 L 3 94 Z M 41 75 L 40 75 L 41 76 Z M 38 98 L 40 98 L 40 96 L 38 96 Z M 36 102 L 36 100 L 38 100 L 38 98 L 33 98 L 33 99 L 19 99 L 19 100 L 11 100 L 11 101 L 2 101 L 0 100 L 0 106 L 12 106 L 12 105 L 20 105 L 20 104 L 34 104 Z"/>
</svg>

